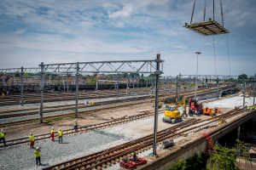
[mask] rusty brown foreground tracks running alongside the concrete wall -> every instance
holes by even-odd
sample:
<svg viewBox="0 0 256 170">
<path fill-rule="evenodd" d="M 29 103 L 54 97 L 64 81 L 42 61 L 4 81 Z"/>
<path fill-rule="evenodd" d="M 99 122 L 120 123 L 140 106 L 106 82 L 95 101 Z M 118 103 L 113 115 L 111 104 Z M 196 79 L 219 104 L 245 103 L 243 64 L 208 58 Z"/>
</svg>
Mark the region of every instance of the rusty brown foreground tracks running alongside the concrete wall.
<svg viewBox="0 0 256 170">
<path fill-rule="evenodd" d="M 188 133 L 196 133 L 202 129 L 209 127 L 217 127 L 215 122 L 219 121 L 220 117 L 229 119 L 241 113 L 241 109 L 231 110 L 215 119 L 209 118 L 207 120 L 190 119 L 189 121 L 181 122 L 173 127 L 166 128 L 157 133 L 158 144 L 161 144 L 166 139 L 174 139 Z M 254 111 L 256 112 L 256 111 Z M 108 148 L 107 150 L 98 151 L 88 156 L 82 156 L 70 161 L 64 161 L 53 166 L 45 167 L 44 170 L 54 169 L 84 169 L 90 170 L 93 168 L 101 169 L 102 167 L 110 166 L 122 160 L 125 156 L 131 156 L 133 153 L 148 150 L 153 145 L 153 134 L 147 135 L 140 139 L 135 139 L 125 144 L 119 144 Z M 181 146 L 182 147 L 182 146 Z"/>
</svg>

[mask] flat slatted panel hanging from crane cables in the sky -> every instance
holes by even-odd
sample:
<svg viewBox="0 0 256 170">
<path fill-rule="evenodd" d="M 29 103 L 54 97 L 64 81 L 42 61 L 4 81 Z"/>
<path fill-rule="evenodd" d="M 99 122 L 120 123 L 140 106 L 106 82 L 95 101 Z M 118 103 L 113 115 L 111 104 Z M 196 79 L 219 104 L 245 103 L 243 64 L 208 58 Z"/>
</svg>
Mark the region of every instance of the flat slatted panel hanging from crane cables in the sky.
<svg viewBox="0 0 256 170">
<path fill-rule="evenodd" d="M 218 24 L 215 20 L 207 20 L 202 22 L 196 22 L 194 24 L 185 24 L 183 27 L 188 28 L 191 31 L 200 33 L 203 36 L 211 36 L 218 34 L 230 33 L 223 26 Z"/>
</svg>

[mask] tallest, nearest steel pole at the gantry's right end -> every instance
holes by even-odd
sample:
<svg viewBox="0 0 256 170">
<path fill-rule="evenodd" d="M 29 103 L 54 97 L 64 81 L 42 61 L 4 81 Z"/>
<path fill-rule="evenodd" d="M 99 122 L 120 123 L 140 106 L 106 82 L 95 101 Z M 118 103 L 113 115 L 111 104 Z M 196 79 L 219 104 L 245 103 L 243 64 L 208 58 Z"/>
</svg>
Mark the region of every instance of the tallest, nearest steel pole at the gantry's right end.
<svg viewBox="0 0 256 170">
<path fill-rule="evenodd" d="M 155 103 L 154 103 L 154 141 L 153 141 L 153 156 L 156 156 L 156 144 L 157 144 L 157 126 L 158 126 L 158 95 L 159 95 L 159 78 L 160 78 L 160 54 L 156 55 L 156 71 L 154 72 L 156 76 L 155 83 Z"/>
</svg>

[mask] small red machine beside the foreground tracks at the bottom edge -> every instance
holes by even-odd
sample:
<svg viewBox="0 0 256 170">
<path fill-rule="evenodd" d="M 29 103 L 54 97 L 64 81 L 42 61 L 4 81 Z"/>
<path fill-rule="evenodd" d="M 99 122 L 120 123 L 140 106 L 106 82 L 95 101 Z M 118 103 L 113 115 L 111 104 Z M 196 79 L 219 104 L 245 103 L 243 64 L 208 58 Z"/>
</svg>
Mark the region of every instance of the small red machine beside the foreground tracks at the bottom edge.
<svg viewBox="0 0 256 170">
<path fill-rule="evenodd" d="M 139 165 L 145 165 L 146 163 L 147 160 L 143 159 L 142 157 L 134 155 L 132 156 L 131 159 L 123 159 L 123 161 L 120 161 L 119 165 L 120 167 L 125 167 L 126 169 L 130 170 Z"/>
</svg>

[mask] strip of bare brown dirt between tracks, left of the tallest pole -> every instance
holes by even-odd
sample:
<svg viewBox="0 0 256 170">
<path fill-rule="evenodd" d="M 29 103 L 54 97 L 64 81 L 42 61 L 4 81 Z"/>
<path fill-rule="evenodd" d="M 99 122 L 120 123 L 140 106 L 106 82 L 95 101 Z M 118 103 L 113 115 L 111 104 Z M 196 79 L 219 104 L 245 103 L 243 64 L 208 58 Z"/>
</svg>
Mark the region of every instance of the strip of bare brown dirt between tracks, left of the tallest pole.
<svg viewBox="0 0 256 170">
<path fill-rule="evenodd" d="M 86 126 L 90 124 L 95 124 L 99 122 L 111 121 L 111 116 L 113 118 L 119 118 L 122 116 L 131 116 L 138 114 L 137 111 L 149 110 L 152 109 L 152 104 L 148 103 L 145 105 L 131 105 L 129 107 L 117 108 L 107 111 L 98 111 L 91 114 L 84 114 L 76 120 L 79 122 L 79 126 Z M 25 136 L 29 136 L 30 133 L 34 135 L 41 133 L 50 133 L 51 127 L 55 127 L 55 130 L 69 129 L 73 128 L 74 118 L 63 118 L 61 121 L 57 122 L 48 122 L 48 123 L 30 123 L 24 125 L 3 127 L 4 132 L 6 133 L 5 139 L 17 139 Z"/>
</svg>

